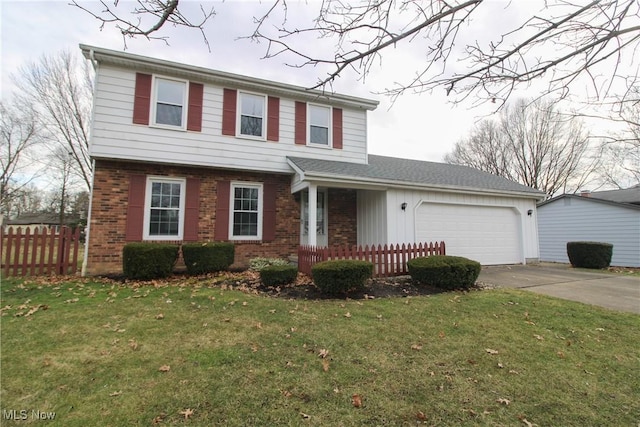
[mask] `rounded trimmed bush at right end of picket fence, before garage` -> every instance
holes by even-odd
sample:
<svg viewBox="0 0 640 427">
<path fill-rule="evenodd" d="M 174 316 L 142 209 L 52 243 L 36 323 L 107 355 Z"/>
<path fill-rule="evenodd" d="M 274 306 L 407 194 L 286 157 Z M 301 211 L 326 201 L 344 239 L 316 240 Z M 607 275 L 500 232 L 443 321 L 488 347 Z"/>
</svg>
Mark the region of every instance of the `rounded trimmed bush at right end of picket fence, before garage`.
<svg viewBox="0 0 640 427">
<path fill-rule="evenodd" d="M 411 279 L 443 289 L 470 288 L 480 274 L 480 263 L 463 257 L 434 255 L 407 262 Z"/>
</svg>

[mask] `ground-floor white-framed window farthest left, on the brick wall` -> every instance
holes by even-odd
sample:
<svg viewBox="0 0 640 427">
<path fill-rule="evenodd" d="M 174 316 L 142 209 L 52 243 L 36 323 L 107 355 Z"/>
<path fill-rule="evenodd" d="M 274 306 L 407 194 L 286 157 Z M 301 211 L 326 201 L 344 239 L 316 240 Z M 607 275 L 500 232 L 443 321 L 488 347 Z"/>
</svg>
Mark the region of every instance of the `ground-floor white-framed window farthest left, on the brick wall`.
<svg viewBox="0 0 640 427">
<path fill-rule="evenodd" d="M 182 240 L 186 181 L 148 177 L 145 191 L 145 240 Z"/>
</svg>

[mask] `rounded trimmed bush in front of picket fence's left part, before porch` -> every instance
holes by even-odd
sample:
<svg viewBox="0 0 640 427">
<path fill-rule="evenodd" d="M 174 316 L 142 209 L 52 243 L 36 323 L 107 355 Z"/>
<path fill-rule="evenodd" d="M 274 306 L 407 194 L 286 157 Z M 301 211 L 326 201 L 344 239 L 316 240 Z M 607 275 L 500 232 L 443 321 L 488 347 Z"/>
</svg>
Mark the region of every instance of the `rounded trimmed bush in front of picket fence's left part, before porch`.
<svg viewBox="0 0 640 427">
<path fill-rule="evenodd" d="M 325 294 L 347 294 L 362 289 L 373 274 L 373 264 L 358 260 L 323 261 L 311 267 L 315 285 Z"/>
</svg>

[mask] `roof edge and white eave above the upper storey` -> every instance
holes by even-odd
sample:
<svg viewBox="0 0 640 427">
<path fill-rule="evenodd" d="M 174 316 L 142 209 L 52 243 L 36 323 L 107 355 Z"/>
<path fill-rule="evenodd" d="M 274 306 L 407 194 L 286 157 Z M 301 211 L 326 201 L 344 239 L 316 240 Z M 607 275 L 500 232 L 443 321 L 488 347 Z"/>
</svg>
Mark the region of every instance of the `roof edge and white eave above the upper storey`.
<svg viewBox="0 0 640 427">
<path fill-rule="evenodd" d="M 91 60 L 91 62 L 94 63 L 94 66 L 96 63 L 105 63 L 123 68 L 130 68 L 136 71 L 164 73 L 189 80 L 210 82 L 233 88 L 286 95 L 301 101 L 318 102 L 318 100 L 321 100 L 322 102 L 327 102 L 333 105 L 344 105 L 363 110 L 375 110 L 379 104 L 378 101 L 372 99 L 359 98 L 340 93 L 331 93 L 322 90 L 310 90 L 302 86 L 243 76 L 241 74 L 228 73 L 225 71 L 197 67 L 194 65 L 187 65 L 163 59 L 150 58 L 148 56 L 135 55 L 128 52 L 120 52 L 84 44 L 80 45 L 80 49 L 82 50 L 84 57 Z"/>
</svg>

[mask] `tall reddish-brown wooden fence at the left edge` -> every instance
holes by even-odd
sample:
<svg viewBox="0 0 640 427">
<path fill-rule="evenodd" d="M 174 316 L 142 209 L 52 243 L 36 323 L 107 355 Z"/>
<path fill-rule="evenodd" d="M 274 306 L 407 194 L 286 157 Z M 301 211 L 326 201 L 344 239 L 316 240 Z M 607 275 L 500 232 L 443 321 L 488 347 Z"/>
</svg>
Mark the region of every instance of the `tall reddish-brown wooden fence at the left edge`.
<svg viewBox="0 0 640 427">
<path fill-rule="evenodd" d="M 78 271 L 80 228 L 59 231 L 9 228 L 2 236 L 3 277 L 75 274 Z"/>
</svg>

